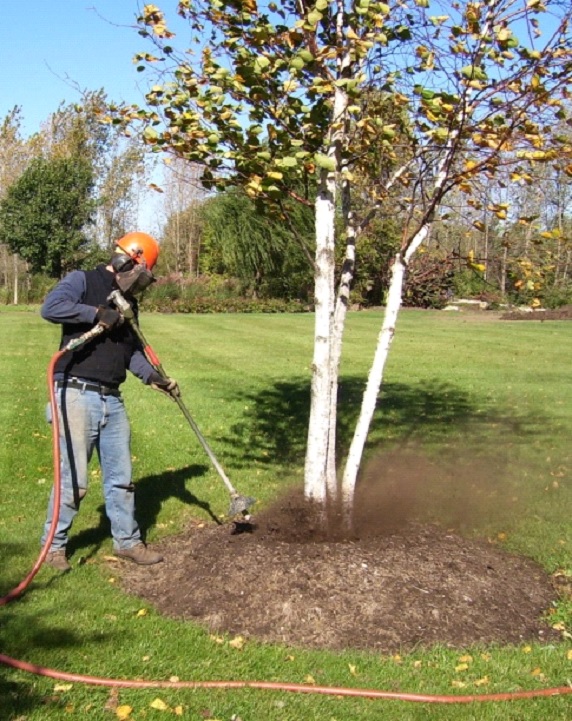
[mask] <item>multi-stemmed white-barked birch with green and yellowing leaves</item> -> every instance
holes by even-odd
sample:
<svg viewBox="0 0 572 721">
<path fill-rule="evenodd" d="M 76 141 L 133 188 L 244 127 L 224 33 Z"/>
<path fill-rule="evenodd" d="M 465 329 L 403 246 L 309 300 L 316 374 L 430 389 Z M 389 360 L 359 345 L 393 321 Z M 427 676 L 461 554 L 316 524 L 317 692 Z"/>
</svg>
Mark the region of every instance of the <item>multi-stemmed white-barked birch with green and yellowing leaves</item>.
<svg viewBox="0 0 572 721">
<path fill-rule="evenodd" d="M 315 211 L 304 486 L 306 498 L 321 506 L 339 497 L 337 385 L 356 245 L 376 214 L 404 214 L 343 472 L 342 498 L 351 509 L 407 264 L 429 241 L 444 197 L 452 188 L 470 195 L 475 178 L 494 177 L 504 164 L 513 164 L 513 180 L 521 182 L 519 162 L 570 155 L 569 145 L 555 147 L 551 133 L 565 115 L 571 77 L 568 3 L 181 0 L 176 9 L 186 50 L 175 48 L 163 11 L 146 5 L 140 33 L 151 46 L 137 60 L 142 71 L 160 70 L 147 109 L 112 108 L 112 115 L 115 122 L 142 122 L 157 152 L 200 164 L 207 187 L 241 184 L 252 197 L 279 203 L 295 195 L 297 183 L 315 179 L 315 197 L 297 199 Z M 372 102 L 380 97 L 392 108 L 389 122 Z M 372 148 L 382 163 L 371 162 Z M 359 212 L 356 178 L 367 187 Z M 345 259 L 336 275 L 340 244 Z"/>
</svg>

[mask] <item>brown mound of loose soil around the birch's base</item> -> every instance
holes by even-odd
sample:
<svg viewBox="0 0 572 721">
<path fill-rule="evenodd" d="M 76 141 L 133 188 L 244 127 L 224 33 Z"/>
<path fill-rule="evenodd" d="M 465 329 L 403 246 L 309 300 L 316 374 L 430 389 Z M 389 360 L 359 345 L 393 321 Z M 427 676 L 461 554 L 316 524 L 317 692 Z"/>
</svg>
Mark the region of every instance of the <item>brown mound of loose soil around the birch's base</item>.
<svg viewBox="0 0 572 721">
<path fill-rule="evenodd" d="M 167 616 L 291 646 L 556 640 L 541 620 L 556 592 L 532 561 L 439 525 L 385 523 L 371 499 L 360 508 L 349 536 L 295 495 L 251 523 L 196 523 L 155 545 L 162 564 L 122 564 L 122 584 Z"/>
</svg>

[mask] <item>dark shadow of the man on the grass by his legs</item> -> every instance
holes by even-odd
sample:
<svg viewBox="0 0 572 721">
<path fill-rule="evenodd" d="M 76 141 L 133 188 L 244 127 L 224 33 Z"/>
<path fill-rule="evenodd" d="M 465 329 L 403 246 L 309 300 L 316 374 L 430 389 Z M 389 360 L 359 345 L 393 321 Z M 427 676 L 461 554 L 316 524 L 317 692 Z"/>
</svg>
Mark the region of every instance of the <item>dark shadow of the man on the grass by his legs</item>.
<svg viewBox="0 0 572 721">
<path fill-rule="evenodd" d="M 201 501 L 186 487 L 189 478 L 204 476 L 207 471 L 207 466 L 193 464 L 176 470 L 144 476 L 135 482 L 136 518 L 144 539 L 149 528 L 156 524 L 163 503 L 169 498 L 178 498 L 182 503 L 197 506 L 205 511 L 215 523 L 220 523 L 210 504 Z M 90 549 L 87 555 L 83 555 L 84 561 L 95 556 L 111 537 L 105 506 L 102 504 L 97 510 L 99 522 L 96 526 L 83 529 L 76 535 L 73 535 L 72 531 L 70 535 L 68 543 L 70 555 Z"/>
</svg>

